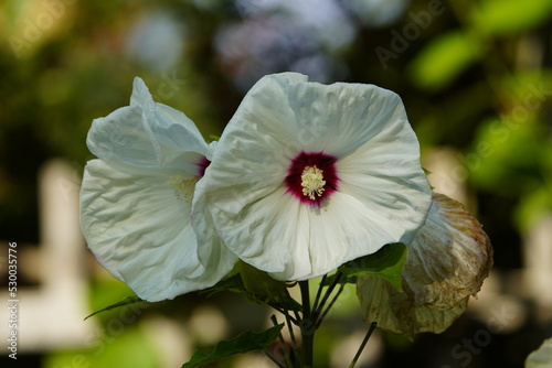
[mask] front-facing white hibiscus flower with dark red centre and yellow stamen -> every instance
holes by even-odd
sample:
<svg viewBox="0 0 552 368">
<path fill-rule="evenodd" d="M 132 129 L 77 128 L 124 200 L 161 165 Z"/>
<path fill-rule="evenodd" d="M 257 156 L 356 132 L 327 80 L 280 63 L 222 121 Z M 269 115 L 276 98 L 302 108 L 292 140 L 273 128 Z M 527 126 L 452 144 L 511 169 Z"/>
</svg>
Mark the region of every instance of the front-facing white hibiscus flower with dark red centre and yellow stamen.
<svg viewBox="0 0 552 368">
<path fill-rule="evenodd" d="M 250 90 L 198 185 L 229 248 L 278 280 L 410 242 L 432 201 L 397 95 L 295 73 Z"/>
</svg>

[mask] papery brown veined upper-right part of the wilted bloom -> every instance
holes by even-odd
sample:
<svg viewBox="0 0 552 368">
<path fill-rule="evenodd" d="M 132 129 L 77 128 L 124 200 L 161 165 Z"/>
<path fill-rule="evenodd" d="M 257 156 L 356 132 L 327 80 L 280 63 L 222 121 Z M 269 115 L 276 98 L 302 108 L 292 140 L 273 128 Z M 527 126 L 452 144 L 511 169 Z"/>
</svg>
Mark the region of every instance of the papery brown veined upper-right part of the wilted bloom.
<svg viewBox="0 0 552 368">
<path fill-rule="evenodd" d="M 492 266 L 490 240 L 464 206 L 438 193 L 408 247 L 403 281 L 416 305 L 447 310 L 476 294 Z"/>
</svg>

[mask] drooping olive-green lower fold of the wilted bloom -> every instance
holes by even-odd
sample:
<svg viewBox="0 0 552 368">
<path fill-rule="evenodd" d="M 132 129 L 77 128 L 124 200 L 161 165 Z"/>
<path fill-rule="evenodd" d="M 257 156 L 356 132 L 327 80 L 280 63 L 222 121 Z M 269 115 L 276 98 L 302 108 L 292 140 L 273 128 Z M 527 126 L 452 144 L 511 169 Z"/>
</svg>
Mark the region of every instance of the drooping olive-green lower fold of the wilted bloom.
<svg viewBox="0 0 552 368">
<path fill-rule="evenodd" d="M 378 322 L 381 329 L 405 334 L 411 339 L 416 333 L 444 332 L 468 305 L 467 296 L 445 311 L 416 306 L 410 291 L 401 293 L 388 280 L 376 277 L 360 277 L 357 281 L 357 293 L 364 321 Z"/>
</svg>

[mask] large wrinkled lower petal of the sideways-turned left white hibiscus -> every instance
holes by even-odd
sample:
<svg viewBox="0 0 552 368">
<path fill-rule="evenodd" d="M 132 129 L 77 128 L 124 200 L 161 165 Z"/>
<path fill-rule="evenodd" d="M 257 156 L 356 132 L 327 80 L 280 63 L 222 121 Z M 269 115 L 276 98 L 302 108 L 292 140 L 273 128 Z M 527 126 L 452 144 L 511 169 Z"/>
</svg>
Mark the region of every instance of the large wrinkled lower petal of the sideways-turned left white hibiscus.
<svg viewBox="0 0 552 368">
<path fill-rule="evenodd" d="M 172 175 L 187 177 L 176 169 L 93 160 L 83 177 L 81 224 L 88 247 L 114 277 L 150 302 L 209 288 L 233 264 L 220 240 L 209 243 L 216 264 L 200 262 L 191 204 L 177 198 L 168 184 Z"/>
</svg>

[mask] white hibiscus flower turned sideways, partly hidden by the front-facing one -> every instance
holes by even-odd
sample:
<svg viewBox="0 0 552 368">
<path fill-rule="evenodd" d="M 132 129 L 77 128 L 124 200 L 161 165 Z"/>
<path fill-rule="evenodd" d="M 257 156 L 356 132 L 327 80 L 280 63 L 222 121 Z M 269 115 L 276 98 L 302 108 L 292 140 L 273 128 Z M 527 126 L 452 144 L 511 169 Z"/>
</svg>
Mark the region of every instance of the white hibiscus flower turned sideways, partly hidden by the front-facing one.
<svg viewBox="0 0 552 368">
<path fill-rule="evenodd" d="M 182 112 L 156 104 L 140 78 L 130 106 L 94 120 L 81 191 L 81 224 L 88 247 L 115 278 L 155 302 L 209 288 L 236 257 L 197 214 L 195 185 L 210 163 L 208 145 Z"/>
</svg>

